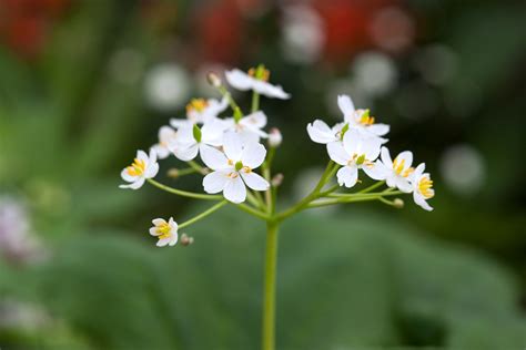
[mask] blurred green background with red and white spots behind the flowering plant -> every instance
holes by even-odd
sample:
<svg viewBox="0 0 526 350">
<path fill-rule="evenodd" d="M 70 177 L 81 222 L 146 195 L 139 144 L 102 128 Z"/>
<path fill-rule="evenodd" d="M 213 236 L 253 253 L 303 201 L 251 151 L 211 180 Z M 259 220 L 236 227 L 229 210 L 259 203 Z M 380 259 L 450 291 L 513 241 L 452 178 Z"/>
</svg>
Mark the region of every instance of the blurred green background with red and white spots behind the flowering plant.
<svg viewBox="0 0 526 350">
<path fill-rule="evenodd" d="M 204 79 L 264 63 L 284 204 L 321 173 L 307 122 L 351 94 L 435 179 L 433 213 L 347 205 L 283 228 L 280 349 L 526 347 L 526 6 L 455 0 L 0 0 L 0 348 L 254 349 L 262 225 L 120 169 Z M 249 105 L 250 94 L 237 94 Z M 166 184 L 200 191 L 201 179 Z"/>
</svg>

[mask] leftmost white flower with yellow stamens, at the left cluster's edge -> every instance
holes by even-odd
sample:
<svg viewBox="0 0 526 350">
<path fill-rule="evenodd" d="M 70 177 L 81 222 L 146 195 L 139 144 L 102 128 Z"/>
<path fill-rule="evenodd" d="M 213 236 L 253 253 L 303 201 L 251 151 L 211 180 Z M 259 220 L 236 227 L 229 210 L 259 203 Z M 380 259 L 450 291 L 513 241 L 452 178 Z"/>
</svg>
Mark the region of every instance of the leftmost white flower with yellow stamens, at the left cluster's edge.
<svg viewBox="0 0 526 350">
<path fill-rule="evenodd" d="M 159 163 L 155 151 L 150 150 L 150 156 L 144 151 L 138 151 L 133 163 L 121 172 L 121 177 L 130 184 L 120 185 L 119 187 L 138 189 L 146 178 L 154 177 L 158 172 Z"/>
</svg>

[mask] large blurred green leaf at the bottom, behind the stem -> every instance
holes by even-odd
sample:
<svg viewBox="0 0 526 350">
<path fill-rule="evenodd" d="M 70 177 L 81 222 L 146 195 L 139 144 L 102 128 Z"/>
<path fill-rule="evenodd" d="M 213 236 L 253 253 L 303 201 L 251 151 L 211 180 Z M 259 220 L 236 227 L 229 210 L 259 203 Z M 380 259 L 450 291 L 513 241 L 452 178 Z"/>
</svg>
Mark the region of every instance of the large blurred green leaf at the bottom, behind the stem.
<svg viewBox="0 0 526 350">
<path fill-rule="evenodd" d="M 260 227 L 225 209 L 191 228 L 188 248 L 81 235 L 26 278 L 95 349 L 252 349 L 260 337 Z M 514 281 L 473 251 L 367 213 L 301 215 L 284 224 L 280 245 L 281 349 L 526 344 Z"/>
</svg>

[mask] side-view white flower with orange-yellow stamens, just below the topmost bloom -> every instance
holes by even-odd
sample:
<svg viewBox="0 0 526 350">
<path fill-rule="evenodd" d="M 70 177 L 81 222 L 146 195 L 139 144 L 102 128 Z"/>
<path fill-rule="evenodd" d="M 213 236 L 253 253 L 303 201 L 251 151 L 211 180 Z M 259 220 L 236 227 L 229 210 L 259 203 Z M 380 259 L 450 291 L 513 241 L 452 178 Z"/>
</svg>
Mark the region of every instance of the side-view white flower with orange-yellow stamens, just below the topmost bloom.
<svg viewBox="0 0 526 350">
<path fill-rule="evenodd" d="M 205 124 L 216 119 L 227 106 L 229 100 L 226 97 L 223 97 L 221 101 L 215 99 L 193 99 L 186 105 L 186 119 L 171 119 L 170 124 L 176 128 L 191 124 Z"/>
</svg>

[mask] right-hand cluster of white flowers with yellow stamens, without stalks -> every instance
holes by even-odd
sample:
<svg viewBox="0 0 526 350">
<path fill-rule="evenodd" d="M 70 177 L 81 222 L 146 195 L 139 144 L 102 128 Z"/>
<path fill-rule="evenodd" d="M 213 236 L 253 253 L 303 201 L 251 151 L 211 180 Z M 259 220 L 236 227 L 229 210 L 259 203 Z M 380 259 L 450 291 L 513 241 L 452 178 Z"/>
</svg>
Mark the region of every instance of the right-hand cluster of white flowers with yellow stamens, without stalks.
<svg viewBox="0 0 526 350">
<path fill-rule="evenodd" d="M 350 96 L 340 95 L 337 103 L 344 121 L 330 127 L 315 120 L 307 125 L 307 133 L 312 141 L 326 144 L 331 159 L 342 166 L 336 174 L 340 186 L 353 187 L 362 169 L 373 179 L 385 181 L 390 188 L 413 193 L 417 205 L 432 210 L 426 200 L 435 192 L 429 174 L 424 173 L 425 164 L 412 167 L 411 151 L 404 151 L 392 159 L 390 151 L 383 146 L 387 142 L 383 136 L 390 132 L 390 126 L 375 123 L 370 110 L 356 110 Z"/>
</svg>

